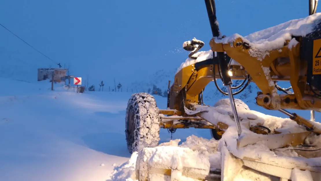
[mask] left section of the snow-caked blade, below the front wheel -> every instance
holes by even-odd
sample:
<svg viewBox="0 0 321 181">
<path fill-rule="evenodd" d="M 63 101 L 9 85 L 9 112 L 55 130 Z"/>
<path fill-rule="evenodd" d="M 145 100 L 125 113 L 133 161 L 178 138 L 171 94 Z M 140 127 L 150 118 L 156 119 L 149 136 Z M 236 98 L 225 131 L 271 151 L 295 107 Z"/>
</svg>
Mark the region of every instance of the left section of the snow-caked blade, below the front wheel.
<svg viewBox="0 0 321 181">
<path fill-rule="evenodd" d="M 160 147 L 160 150 L 167 149 L 166 147 Z M 169 148 L 171 149 L 171 148 Z M 159 151 L 160 151 L 159 150 Z M 178 147 L 177 150 L 178 151 Z M 179 148 L 179 153 L 185 151 L 183 148 Z M 154 154 L 151 154 L 154 152 Z M 157 151 L 156 151 L 157 152 Z M 188 151 L 187 151 L 188 152 Z M 181 165 L 179 161 L 185 159 L 185 163 L 192 161 L 202 162 L 202 157 L 195 158 L 184 158 L 184 154 L 179 155 L 169 154 L 168 158 L 170 160 L 153 160 L 155 158 L 155 151 L 153 148 L 144 148 L 138 152 L 138 157 L 136 161 L 136 179 L 139 181 L 158 181 L 160 178 L 162 180 L 182 180 L 182 178 L 193 178 L 195 180 L 208 180 L 208 181 L 220 181 L 221 180 L 221 171 L 220 170 L 210 170 L 210 165 L 208 167 L 195 167 L 186 165 Z M 157 153 L 156 153 L 157 154 Z M 173 159 L 174 158 L 174 159 Z M 148 160 L 148 161 L 147 161 Z M 177 161 L 177 162 L 176 162 Z M 207 160 L 205 160 L 206 162 Z M 195 163 L 194 162 L 194 163 Z M 183 161 L 184 163 L 184 161 Z M 204 165 L 204 164 L 201 164 Z"/>
</svg>

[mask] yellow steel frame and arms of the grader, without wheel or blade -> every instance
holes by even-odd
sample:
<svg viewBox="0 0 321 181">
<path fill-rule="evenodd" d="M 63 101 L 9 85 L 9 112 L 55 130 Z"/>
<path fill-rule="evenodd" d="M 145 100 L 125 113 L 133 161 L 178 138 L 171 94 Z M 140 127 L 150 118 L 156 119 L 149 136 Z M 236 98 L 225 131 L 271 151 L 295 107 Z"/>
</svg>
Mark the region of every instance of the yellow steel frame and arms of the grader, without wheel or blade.
<svg viewBox="0 0 321 181">
<path fill-rule="evenodd" d="M 316 5 L 312 6 L 310 0 L 309 14 L 316 11 Z M 257 93 L 256 103 L 268 110 L 278 110 L 288 115 L 293 121 L 307 127 L 308 131 L 321 133 L 321 130 L 313 125 L 314 111 L 321 112 L 321 98 L 316 92 L 320 92 L 314 84 L 311 84 L 311 74 L 317 77 L 320 73 L 316 69 L 310 68 L 310 58 L 307 56 L 302 58 L 302 51 L 313 49 L 313 55 L 321 47 L 321 37 L 317 37 L 317 32 L 311 33 L 312 37 L 320 38 L 314 40 L 314 44 L 307 43 L 305 37 L 292 36 L 292 40 L 284 42 L 284 46 L 280 49 L 264 50 L 262 54 L 268 56 L 254 57 L 253 49 L 249 43 L 244 42 L 241 38 L 237 38 L 227 42 L 216 42 L 224 38 L 219 32 L 216 24 L 215 2 L 214 0 L 205 0 L 213 38 L 210 41 L 210 47 L 213 51 L 213 58 L 182 68 L 174 78 L 174 83 L 169 87 L 168 109 L 159 110 L 161 128 L 177 129 L 177 128 L 206 128 L 216 129 L 220 134 L 227 129 L 227 125 L 206 124 L 200 117 L 200 113 L 189 115 L 186 110 L 193 110 L 195 105 L 201 104 L 201 96 L 206 85 L 216 79 L 221 79 L 223 85 L 227 86 L 230 96 L 231 106 L 234 112 L 238 132 L 240 134 L 240 124 L 233 93 L 231 92 L 231 79 L 253 81 L 261 92 Z M 311 37 L 311 36 L 310 36 Z M 294 43 L 293 43 L 294 42 Z M 185 50 L 191 51 L 189 58 L 196 59 L 194 54 L 200 50 L 204 42 L 196 40 L 184 42 Z M 302 48 L 302 46 L 304 46 Z M 225 53 L 223 53 L 225 52 Z M 311 52 L 312 53 L 312 52 Z M 217 56 L 215 56 L 215 54 Z M 300 56 L 301 55 L 301 56 Z M 313 59 L 314 60 L 314 59 Z M 237 64 L 231 65 L 232 61 Z M 229 65 L 230 64 L 230 65 Z M 315 66 L 313 66 L 315 67 Z M 313 72 L 308 72 L 313 71 Z M 286 93 L 286 90 L 276 86 L 274 81 L 290 81 L 293 94 L 278 94 L 277 91 Z M 311 86 L 313 85 L 313 86 Z M 216 85 L 217 86 L 217 85 Z M 315 87 L 314 87 L 315 86 Z M 219 87 L 218 87 L 219 89 Z M 290 113 L 285 109 L 311 110 L 311 120 L 307 120 L 295 113 Z M 167 116 L 165 116 L 167 115 Z M 181 123 L 174 124 L 175 120 L 185 120 Z M 218 129 L 220 128 L 220 129 Z M 220 131 L 219 131 L 220 130 Z M 262 129 L 251 128 L 257 133 L 268 134 Z"/>
</svg>

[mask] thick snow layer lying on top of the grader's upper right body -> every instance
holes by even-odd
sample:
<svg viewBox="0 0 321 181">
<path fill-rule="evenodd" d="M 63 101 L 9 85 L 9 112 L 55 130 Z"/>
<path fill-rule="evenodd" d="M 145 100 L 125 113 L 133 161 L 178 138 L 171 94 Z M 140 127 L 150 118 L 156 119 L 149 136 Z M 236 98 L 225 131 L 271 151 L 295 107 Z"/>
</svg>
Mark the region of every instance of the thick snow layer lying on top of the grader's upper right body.
<svg viewBox="0 0 321 181">
<path fill-rule="evenodd" d="M 320 19 L 321 13 L 316 13 L 251 33 L 245 37 L 236 33 L 220 40 L 216 39 L 215 42 L 226 44 L 241 38 L 251 46 L 251 55 L 262 59 L 268 55 L 267 51 L 280 49 L 286 40 L 292 40 L 292 36 L 305 36 L 313 32 Z M 292 41 L 289 46 L 294 46 L 296 43 L 296 41 Z"/>
</svg>

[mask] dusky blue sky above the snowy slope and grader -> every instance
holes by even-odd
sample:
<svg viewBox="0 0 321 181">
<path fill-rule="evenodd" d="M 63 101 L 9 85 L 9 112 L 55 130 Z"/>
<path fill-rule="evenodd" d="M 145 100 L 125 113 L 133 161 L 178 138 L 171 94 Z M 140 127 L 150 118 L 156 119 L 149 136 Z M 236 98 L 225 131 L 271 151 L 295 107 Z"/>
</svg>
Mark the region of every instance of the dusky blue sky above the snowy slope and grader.
<svg viewBox="0 0 321 181">
<path fill-rule="evenodd" d="M 245 36 L 308 16 L 307 0 L 215 2 L 226 35 Z M 177 68 L 188 55 L 184 41 L 196 37 L 205 42 L 202 50 L 209 50 L 212 36 L 202 0 L 1 0 L 0 17 L 0 23 L 42 53 L 62 66 L 70 64 L 76 77 L 88 74 L 92 83 L 104 80 L 105 85 L 114 77 L 126 84 Z M 0 54 L 7 66 L 25 72 L 57 66 L 2 27 Z"/>
</svg>

